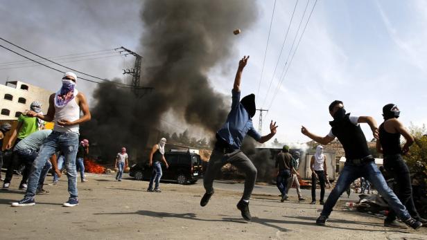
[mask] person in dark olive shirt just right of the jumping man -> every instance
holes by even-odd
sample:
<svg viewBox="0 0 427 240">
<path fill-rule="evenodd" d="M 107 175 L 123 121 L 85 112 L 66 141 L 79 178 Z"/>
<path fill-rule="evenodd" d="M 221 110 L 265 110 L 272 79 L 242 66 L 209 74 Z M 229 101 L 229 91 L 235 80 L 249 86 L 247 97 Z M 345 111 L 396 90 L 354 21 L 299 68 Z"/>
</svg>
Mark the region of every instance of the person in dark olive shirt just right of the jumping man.
<svg viewBox="0 0 427 240">
<path fill-rule="evenodd" d="M 280 201 L 283 203 L 288 200 L 287 188 L 288 188 L 288 179 L 291 174 L 295 173 L 299 176 L 298 172 L 293 167 L 293 161 L 295 159 L 289 153 L 289 147 L 284 145 L 280 153 L 276 156 L 276 167 L 279 167 L 279 172 L 277 173 L 276 184 L 277 188 L 281 193 Z M 299 194 L 298 194 L 299 196 Z"/>
</svg>

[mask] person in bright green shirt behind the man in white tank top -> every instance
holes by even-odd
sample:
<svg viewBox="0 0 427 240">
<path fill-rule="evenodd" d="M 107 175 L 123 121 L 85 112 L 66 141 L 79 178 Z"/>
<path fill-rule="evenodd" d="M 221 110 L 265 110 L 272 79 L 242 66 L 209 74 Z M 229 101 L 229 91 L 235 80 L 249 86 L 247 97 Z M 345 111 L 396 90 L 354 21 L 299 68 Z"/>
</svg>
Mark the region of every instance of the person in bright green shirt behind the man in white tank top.
<svg viewBox="0 0 427 240">
<path fill-rule="evenodd" d="M 42 104 L 40 102 L 32 102 L 30 104 L 31 111 L 35 113 L 41 113 L 42 112 Z M 37 131 L 40 128 L 39 121 L 34 116 L 26 116 L 24 114 L 21 114 L 18 118 L 18 124 L 17 127 L 12 131 L 12 136 L 10 136 L 8 145 L 6 145 L 6 149 L 13 149 L 20 140 L 26 138 L 26 136 L 30 135 L 31 133 Z M 12 142 L 15 140 L 15 143 L 12 144 Z M 6 178 L 3 183 L 3 190 L 8 190 L 10 186 L 10 181 L 12 181 L 13 177 L 13 171 L 15 169 L 23 169 L 20 168 L 22 163 L 19 161 L 19 158 L 15 158 L 15 155 L 12 154 L 10 156 L 10 161 L 8 163 L 7 172 L 6 172 Z M 21 183 L 19 185 L 20 190 L 26 190 L 26 183 Z"/>
</svg>

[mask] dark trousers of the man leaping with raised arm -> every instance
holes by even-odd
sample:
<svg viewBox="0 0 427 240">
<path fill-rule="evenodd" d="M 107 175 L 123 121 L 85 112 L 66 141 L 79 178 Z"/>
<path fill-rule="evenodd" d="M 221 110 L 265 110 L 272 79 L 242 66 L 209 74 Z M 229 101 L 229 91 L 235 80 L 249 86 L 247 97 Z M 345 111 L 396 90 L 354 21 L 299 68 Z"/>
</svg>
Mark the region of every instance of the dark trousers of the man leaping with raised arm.
<svg viewBox="0 0 427 240">
<path fill-rule="evenodd" d="M 211 158 L 209 158 L 209 165 L 203 177 L 204 190 L 206 190 L 206 192 L 212 192 L 212 190 L 214 190 L 213 185 L 216 174 L 220 172 L 223 165 L 231 163 L 246 175 L 245 190 L 243 190 L 242 199 L 249 201 L 255 186 L 256 167 L 240 149 L 229 150 L 230 151 L 225 151 L 225 149 L 216 146 L 214 151 L 212 151 Z"/>
</svg>

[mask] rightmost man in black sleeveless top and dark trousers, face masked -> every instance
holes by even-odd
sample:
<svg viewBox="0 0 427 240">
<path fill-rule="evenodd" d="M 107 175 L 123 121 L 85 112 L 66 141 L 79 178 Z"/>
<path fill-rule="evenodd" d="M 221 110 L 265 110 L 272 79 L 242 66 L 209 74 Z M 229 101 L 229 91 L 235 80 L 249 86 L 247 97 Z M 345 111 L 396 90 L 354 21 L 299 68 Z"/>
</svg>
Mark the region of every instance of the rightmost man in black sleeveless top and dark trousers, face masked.
<svg viewBox="0 0 427 240">
<path fill-rule="evenodd" d="M 421 219 L 417 209 L 415 209 L 409 169 L 401 155 L 408 153 L 414 138 L 397 119 L 399 115 L 400 110 L 395 104 L 387 104 L 383 107 L 384 122 L 379 128 L 379 140 L 376 141 L 376 150 L 383 154 L 385 170 L 390 172 L 394 177 L 394 181 L 397 182 L 397 188 L 394 192 L 396 192 L 399 200 L 406 206 L 408 212 L 414 216 L 414 219 L 425 224 L 427 220 Z M 400 142 L 401 135 L 406 140 L 403 148 L 401 148 Z M 394 211 L 390 211 L 387 215 L 384 225 L 390 228 L 406 228 L 405 225 L 396 221 L 396 212 Z"/>
</svg>

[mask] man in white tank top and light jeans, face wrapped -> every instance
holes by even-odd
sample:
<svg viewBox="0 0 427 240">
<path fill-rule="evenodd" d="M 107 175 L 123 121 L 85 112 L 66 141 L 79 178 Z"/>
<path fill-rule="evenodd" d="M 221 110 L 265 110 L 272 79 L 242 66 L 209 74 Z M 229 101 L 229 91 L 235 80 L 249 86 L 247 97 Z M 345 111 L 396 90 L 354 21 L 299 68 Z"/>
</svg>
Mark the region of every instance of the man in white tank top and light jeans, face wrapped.
<svg viewBox="0 0 427 240">
<path fill-rule="evenodd" d="M 49 98 L 49 109 L 46 115 L 28 111 L 27 116 L 37 117 L 46 122 L 55 122 L 55 127 L 49 137 L 40 147 L 39 154 L 33 163 L 33 172 L 28 179 L 28 189 L 24 199 L 14 203 L 14 206 L 35 204 L 35 190 L 40 178 L 40 172 L 52 154 L 62 151 L 65 157 L 65 167 L 68 177 L 69 200 L 64 207 L 78 205 L 76 155 L 78 150 L 79 124 L 91 119 L 85 95 L 74 88 L 77 76 L 75 73 L 65 73 L 62 77 L 62 87 Z M 80 116 L 80 111 L 83 115 Z"/>
</svg>

